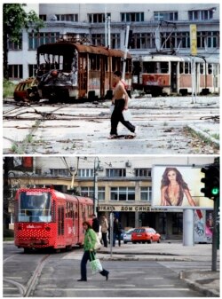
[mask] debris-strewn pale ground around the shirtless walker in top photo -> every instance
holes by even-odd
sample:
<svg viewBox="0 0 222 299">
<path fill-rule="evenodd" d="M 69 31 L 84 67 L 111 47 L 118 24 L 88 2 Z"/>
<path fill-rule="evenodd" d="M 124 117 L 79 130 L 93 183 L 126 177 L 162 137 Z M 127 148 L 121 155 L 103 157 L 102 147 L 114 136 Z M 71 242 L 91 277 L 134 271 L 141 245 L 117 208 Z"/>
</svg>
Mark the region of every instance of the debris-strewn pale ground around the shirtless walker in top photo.
<svg viewBox="0 0 222 299">
<path fill-rule="evenodd" d="M 3 151 L 36 154 L 218 153 L 218 97 L 132 98 L 137 138 L 109 140 L 110 101 L 82 104 L 4 103 Z M 192 104 L 193 103 L 193 104 Z M 192 128 L 192 130 L 191 130 Z M 192 136 L 197 130 L 199 136 Z M 118 134 L 128 131 L 120 123 Z M 200 133 L 207 134 L 207 142 Z"/>
</svg>

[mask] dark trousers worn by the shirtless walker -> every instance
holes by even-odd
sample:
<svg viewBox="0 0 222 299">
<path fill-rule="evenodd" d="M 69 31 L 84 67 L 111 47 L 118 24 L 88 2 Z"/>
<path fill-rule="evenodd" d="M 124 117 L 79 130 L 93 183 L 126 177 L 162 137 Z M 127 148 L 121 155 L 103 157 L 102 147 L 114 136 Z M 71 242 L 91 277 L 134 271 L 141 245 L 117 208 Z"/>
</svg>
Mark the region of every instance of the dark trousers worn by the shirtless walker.
<svg viewBox="0 0 222 299">
<path fill-rule="evenodd" d="M 111 115 L 111 131 L 110 135 L 117 135 L 117 126 L 119 122 L 123 123 L 128 130 L 131 132 L 135 131 L 135 126 L 131 124 L 131 122 L 127 122 L 123 118 L 123 108 L 125 105 L 124 98 L 116 99 L 115 100 L 115 108 Z"/>
</svg>

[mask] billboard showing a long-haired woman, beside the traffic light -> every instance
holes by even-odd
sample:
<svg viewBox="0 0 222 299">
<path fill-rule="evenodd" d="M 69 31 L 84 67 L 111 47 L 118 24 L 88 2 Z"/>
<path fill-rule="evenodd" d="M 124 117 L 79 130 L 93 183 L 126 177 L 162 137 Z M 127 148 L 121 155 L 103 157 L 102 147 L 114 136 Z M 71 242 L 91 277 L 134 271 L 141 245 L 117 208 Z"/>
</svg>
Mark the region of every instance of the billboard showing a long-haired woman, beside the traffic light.
<svg viewBox="0 0 222 299">
<path fill-rule="evenodd" d="M 181 209 L 213 209 L 213 201 L 203 197 L 201 168 L 191 166 L 153 167 L 152 190 L 154 207 Z"/>
</svg>

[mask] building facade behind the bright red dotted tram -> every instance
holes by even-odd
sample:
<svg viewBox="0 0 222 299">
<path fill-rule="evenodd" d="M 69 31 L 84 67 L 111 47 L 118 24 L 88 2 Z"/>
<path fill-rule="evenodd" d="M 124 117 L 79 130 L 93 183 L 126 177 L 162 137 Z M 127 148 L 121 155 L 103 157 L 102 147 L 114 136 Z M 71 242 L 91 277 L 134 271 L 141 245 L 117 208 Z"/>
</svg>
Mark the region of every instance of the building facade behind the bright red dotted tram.
<svg viewBox="0 0 222 299">
<path fill-rule="evenodd" d="M 28 167 L 24 164 L 27 159 L 31 159 Z M 154 167 L 201 168 L 213 161 L 213 156 L 14 157 L 8 188 L 13 197 L 20 187 L 53 185 L 63 193 L 91 197 L 99 216 L 105 213 L 109 218 L 110 212 L 114 212 L 124 228 L 149 225 L 172 238 L 182 234 L 183 210 L 152 205 L 158 196 L 153 192 Z M 11 224 L 12 219 L 13 216 Z"/>
</svg>

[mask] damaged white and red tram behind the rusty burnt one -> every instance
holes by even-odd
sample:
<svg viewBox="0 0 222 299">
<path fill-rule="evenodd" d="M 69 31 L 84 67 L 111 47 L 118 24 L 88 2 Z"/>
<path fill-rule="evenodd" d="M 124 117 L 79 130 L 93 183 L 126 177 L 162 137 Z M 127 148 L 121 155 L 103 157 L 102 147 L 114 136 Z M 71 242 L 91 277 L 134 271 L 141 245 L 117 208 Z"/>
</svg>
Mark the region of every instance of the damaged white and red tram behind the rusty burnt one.
<svg viewBox="0 0 222 299">
<path fill-rule="evenodd" d="M 219 59 L 153 54 L 133 61 L 132 89 L 153 97 L 219 93 Z"/>
</svg>

